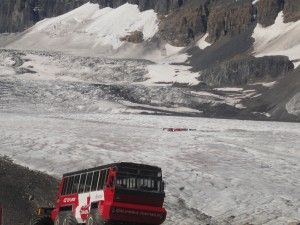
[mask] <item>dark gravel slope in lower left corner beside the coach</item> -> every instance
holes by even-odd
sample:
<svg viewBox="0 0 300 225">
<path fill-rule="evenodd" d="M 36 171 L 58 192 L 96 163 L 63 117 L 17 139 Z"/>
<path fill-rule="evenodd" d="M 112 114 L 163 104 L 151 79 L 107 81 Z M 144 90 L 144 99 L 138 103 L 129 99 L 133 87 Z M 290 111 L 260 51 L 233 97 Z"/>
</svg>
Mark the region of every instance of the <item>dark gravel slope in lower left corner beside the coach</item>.
<svg viewBox="0 0 300 225">
<path fill-rule="evenodd" d="M 27 225 L 36 207 L 55 203 L 58 181 L 0 157 L 0 205 L 5 225 Z"/>
</svg>

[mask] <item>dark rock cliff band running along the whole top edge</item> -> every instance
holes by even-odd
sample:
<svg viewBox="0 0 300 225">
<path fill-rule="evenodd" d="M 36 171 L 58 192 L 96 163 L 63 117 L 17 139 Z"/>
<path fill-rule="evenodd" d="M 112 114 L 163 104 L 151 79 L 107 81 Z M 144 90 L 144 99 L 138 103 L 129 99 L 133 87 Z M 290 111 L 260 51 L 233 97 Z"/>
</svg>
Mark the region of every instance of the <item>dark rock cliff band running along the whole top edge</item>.
<svg viewBox="0 0 300 225">
<path fill-rule="evenodd" d="M 19 32 L 37 21 L 66 13 L 88 0 L 2 0 L 0 32 Z M 239 34 L 257 21 L 264 26 L 274 23 L 284 10 L 285 21 L 300 18 L 297 0 L 91 0 L 100 8 L 117 8 L 125 3 L 137 4 L 141 11 L 154 9 L 167 15 L 161 23 L 161 36 L 175 45 L 187 45 L 196 35 L 206 32 L 215 42 L 224 36 Z M 176 25 L 176 26 L 175 26 Z"/>
</svg>

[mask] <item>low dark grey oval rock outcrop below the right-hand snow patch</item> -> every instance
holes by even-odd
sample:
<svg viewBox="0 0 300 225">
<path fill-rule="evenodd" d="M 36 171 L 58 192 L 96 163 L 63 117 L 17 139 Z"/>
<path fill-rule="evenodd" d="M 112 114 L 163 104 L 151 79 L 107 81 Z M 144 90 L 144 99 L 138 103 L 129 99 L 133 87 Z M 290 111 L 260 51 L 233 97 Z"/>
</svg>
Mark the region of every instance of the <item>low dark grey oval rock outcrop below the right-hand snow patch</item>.
<svg viewBox="0 0 300 225">
<path fill-rule="evenodd" d="M 199 80 L 209 86 L 240 86 L 286 75 L 294 65 L 285 56 L 233 59 L 202 71 Z"/>
</svg>

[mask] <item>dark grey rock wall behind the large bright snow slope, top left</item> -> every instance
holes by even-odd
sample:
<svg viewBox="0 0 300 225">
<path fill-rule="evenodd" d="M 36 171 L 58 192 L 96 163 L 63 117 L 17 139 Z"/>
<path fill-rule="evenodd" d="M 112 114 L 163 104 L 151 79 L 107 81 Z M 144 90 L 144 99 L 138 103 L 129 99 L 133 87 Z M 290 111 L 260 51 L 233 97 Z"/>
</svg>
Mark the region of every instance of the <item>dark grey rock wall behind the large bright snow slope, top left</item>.
<svg viewBox="0 0 300 225">
<path fill-rule="evenodd" d="M 19 32 L 34 23 L 69 12 L 89 0 L 2 0 L 0 2 L 0 33 Z M 91 0 L 100 7 L 117 8 L 124 3 L 138 4 L 140 10 L 155 9 L 167 14 L 183 4 L 183 0 Z"/>
</svg>

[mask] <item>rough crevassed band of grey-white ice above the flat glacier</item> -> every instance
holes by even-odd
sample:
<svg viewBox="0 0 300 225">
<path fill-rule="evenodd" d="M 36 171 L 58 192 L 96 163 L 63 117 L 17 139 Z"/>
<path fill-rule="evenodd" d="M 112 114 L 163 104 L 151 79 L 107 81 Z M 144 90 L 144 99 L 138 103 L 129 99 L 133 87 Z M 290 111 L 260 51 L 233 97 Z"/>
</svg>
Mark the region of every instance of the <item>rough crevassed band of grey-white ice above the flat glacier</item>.
<svg viewBox="0 0 300 225">
<path fill-rule="evenodd" d="M 18 112 L 163 110 L 199 115 L 203 104 L 243 109 L 241 101 L 257 94 L 255 90 L 233 87 L 198 92 L 172 87 L 175 82 L 198 84 L 197 73 L 191 73 L 188 66 L 164 62 L 17 51 L 0 52 L 0 57 L 11 61 L 2 70 L 11 73 L 2 74 L 0 104 L 12 111 L 17 108 Z M 13 66 L 16 62 L 18 65 Z"/>
</svg>

